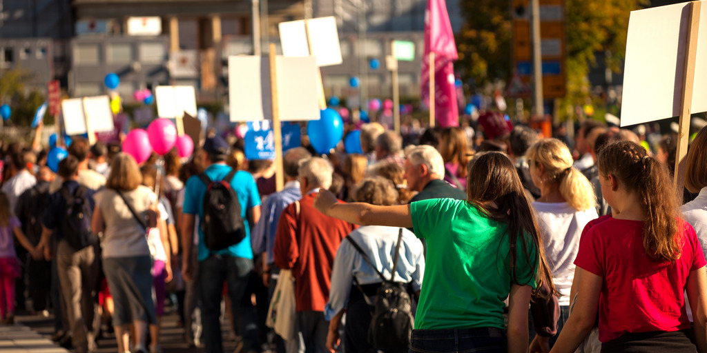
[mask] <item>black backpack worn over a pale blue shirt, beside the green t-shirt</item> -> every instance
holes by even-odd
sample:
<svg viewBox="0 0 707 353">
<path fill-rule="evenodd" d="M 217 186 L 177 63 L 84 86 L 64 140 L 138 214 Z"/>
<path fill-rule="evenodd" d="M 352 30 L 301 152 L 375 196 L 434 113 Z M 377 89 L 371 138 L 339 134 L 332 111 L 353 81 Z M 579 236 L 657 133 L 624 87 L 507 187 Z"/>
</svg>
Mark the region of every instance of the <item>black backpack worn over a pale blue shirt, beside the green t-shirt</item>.
<svg viewBox="0 0 707 353">
<path fill-rule="evenodd" d="M 395 246 L 395 258 L 393 258 L 393 269 L 390 280 L 387 280 L 378 268 L 375 268 L 368 255 L 363 252 L 354 239 L 346 237 L 354 246 L 356 251 L 363 256 L 363 260 L 373 267 L 375 273 L 382 280 L 382 284 L 375 294 L 375 303 L 371 303 L 363 288 L 354 276 L 356 287 L 361 290 L 366 304 L 373 306 L 373 318 L 368 326 L 368 343 L 378 350 L 384 352 L 407 352 L 410 347 L 410 336 L 414 328 L 415 320 L 412 316 L 412 300 L 404 283 L 394 282 L 397 262 L 400 256 L 400 243 L 402 243 L 402 228 L 398 232 L 397 245 Z"/>
</svg>

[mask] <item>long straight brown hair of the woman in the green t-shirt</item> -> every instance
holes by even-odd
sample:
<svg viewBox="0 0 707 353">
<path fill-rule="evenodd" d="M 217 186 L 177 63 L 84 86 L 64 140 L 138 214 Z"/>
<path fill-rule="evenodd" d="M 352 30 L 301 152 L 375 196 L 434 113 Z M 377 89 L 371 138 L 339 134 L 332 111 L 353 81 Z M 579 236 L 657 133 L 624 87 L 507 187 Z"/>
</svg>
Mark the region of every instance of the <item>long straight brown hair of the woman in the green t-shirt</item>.
<svg viewBox="0 0 707 353">
<path fill-rule="evenodd" d="M 532 273 L 537 272 L 535 294 L 538 294 L 544 281 L 547 281 L 550 293 L 555 293 L 542 246 L 542 234 L 513 162 L 501 152 L 486 152 L 474 160 L 467 178 L 469 203 L 494 220 L 508 223 L 509 265 L 513 283 L 526 285 L 518 281 L 518 273 L 530 268 Z M 518 246 L 522 246 L 527 263 L 518 263 Z M 530 246 L 537 249 L 535 256 L 528 250 Z"/>
</svg>

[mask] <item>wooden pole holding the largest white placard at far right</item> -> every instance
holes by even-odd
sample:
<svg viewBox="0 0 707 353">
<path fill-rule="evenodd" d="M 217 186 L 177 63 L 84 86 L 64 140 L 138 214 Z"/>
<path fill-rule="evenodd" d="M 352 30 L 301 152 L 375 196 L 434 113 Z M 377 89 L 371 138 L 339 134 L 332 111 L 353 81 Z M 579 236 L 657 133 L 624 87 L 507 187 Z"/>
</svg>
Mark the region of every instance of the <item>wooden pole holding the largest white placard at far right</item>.
<svg viewBox="0 0 707 353">
<path fill-rule="evenodd" d="M 691 1 L 687 23 L 687 46 L 682 81 L 682 99 L 680 100 L 680 127 L 677 134 L 677 155 L 675 156 L 675 189 L 682 204 L 685 184 L 687 144 L 690 133 L 690 115 L 692 109 L 692 88 L 695 78 L 695 57 L 697 54 L 697 33 L 700 23 L 701 1 Z"/>
</svg>

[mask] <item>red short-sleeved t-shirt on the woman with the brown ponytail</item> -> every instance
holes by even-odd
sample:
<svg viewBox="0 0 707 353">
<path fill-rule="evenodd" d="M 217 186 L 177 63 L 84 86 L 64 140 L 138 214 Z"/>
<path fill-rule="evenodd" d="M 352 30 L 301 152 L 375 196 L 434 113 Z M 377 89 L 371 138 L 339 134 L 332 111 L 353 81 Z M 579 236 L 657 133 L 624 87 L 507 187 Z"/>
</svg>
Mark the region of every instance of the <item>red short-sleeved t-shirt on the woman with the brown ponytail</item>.
<svg viewBox="0 0 707 353">
<path fill-rule="evenodd" d="M 692 227 L 679 222 L 683 246 L 674 263 L 656 262 L 645 254 L 642 221 L 607 215 L 585 227 L 575 265 L 604 279 L 599 299 L 601 342 L 625 333 L 690 328 L 684 303 L 687 276 L 707 262 Z"/>
</svg>

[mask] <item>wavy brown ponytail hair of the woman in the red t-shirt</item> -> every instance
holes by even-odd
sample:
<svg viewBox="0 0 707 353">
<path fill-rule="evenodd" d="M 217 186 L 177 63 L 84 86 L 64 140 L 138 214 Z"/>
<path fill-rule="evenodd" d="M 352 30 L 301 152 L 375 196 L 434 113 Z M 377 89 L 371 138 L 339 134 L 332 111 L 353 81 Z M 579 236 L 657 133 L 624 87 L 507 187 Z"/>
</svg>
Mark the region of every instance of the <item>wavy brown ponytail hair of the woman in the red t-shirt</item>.
<svg viewBox="0 0 707 353">
<path fill-rule="evenodd" d="M 631 141 L 602 148 L 598 165 L 602 176 L 613 175 L 626 191 L 638 193 L 645 215 L 645 253 L 655 261 L 677 260 L 682 246 L 677 220 L 679 208 L 667 168 Z"/>
</svg>

